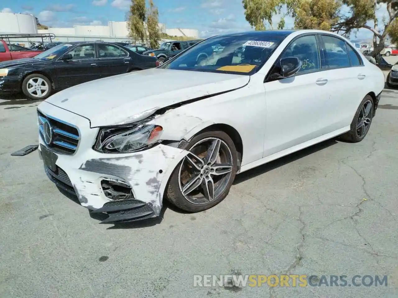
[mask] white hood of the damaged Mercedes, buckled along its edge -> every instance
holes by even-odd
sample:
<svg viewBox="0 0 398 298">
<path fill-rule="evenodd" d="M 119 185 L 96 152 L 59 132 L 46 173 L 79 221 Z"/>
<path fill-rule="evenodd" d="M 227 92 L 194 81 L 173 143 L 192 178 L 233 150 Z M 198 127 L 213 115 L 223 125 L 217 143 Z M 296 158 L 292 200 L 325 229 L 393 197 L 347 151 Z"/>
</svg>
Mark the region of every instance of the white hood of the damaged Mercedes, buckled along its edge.
<svg viewBox="0 0 398 298">
<path fill-rule="evenodd" d="M 248 75 L 152 68 L 115 75 L 60 91 L 46 102 L 88 118 L 91 127 L 138 121 L 159 108 L 230 91 Z"/>
</svg>

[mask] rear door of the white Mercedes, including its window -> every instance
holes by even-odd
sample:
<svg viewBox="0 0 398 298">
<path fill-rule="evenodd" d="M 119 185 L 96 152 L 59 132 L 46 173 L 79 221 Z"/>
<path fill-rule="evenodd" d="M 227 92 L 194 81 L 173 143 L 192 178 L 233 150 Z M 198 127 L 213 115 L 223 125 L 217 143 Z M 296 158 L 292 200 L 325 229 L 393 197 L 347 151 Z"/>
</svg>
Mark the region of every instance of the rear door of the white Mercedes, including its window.
<svg viewBox="0 0 398 298">
<path fill-rule="evenodd" d="M 357 52 L 343 39 L 324 34 L 320 35 L 320 39 L 326 68 L 323 77 L 333 91 L 325 106 L 330 112 L 322 118 L 326 133 L 351 124 L 357 105 L 366 95 L 362 90 L 369 74 Z M 336 51 L 336 48 L 342 52 Z"/>
</svg>

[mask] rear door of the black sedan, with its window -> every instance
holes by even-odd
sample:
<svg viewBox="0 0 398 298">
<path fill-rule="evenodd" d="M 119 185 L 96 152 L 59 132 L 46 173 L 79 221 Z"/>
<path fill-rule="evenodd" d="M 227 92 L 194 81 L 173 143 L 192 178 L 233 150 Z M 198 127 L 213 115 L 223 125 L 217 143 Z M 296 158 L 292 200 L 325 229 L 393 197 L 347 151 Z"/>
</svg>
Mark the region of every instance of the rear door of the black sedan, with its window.
<svg viewBox="0 0 398 298">
<path fill-rule="evenodd" d="M 97 43 L 101 77 L 125 74 L 130 69 L 129 54 L 117 45 Z"/>
</svg>

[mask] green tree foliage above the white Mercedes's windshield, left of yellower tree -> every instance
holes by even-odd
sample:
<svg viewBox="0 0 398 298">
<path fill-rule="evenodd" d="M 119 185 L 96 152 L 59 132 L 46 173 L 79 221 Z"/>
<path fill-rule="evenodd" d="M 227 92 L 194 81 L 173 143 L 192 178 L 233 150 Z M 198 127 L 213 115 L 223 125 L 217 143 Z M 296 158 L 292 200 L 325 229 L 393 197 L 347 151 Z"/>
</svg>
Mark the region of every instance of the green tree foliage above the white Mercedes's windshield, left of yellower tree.
<svg viewBox="0 0 398 298">
<path fill-rule="evenodd" d="M 293 17 L 297 14 L 297 7 L 300 0 L 242 0 L 245 10 L 246 21 L 256 30 L 265 30 L 264 22 L 273 28 L 272 17 L 280 14 L 282 8 L 287 8 L 286 15 Z M 285 16 L 279 21 L 278 29 L 285 27 Z"/>
</svg>

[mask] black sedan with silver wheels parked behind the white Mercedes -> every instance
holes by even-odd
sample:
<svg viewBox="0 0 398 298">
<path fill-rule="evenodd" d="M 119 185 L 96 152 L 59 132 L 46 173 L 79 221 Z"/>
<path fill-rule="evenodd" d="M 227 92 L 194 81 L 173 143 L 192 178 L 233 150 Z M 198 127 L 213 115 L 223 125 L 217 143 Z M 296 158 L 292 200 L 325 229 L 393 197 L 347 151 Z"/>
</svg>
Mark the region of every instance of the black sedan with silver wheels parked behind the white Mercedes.
<svg viewBox="0 0 398 298">
<path fill-rule="evenodd" d="M 30 99 L 45 99 L 54 90 L 156 66 L 156 58 L 112 43 L 64 43 L 34 58 L 0 63 L 0 91 L 22 91 Z"/>
</svg>

